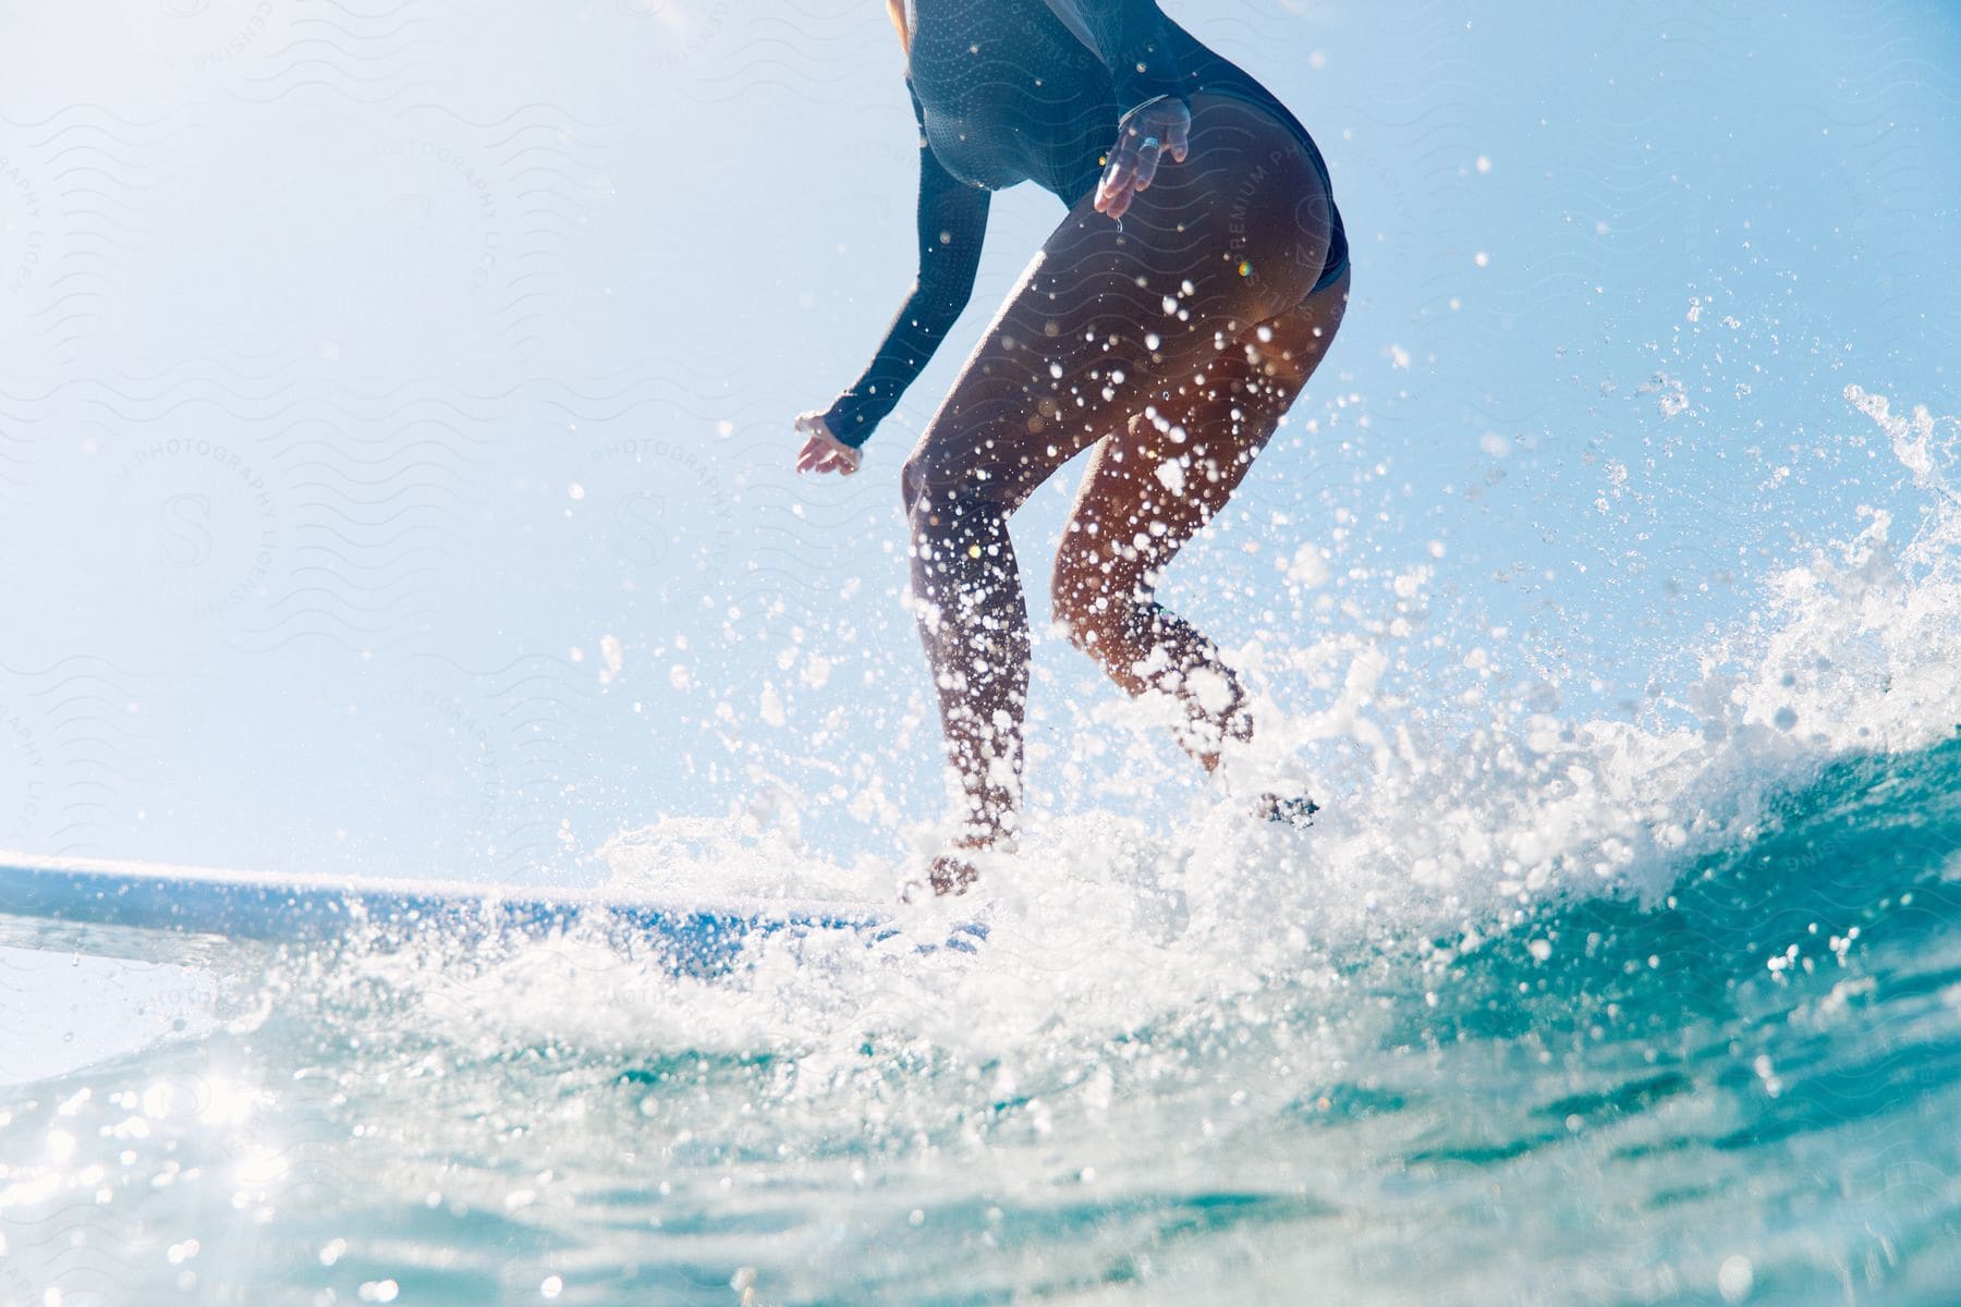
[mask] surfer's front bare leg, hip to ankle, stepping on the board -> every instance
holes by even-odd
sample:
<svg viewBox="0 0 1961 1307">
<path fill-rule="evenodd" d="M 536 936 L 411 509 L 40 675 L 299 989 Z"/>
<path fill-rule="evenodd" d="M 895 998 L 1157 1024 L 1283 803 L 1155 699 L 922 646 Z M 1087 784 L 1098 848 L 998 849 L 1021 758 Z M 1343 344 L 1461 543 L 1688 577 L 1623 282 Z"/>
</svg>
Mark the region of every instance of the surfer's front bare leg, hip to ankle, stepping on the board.
<svg viewBox="0 0 1961 1307">
<path fill-rule="evenodd" d="M 1257 323 L 1294 310 L 1320 274 L 1330 214 L 1314 163 L 1284 127 L 1196 96 L 1190 159 L 1163 169 L 1122 225 L 1090 198 L 1071 210 L 906 460 L 914 600 L 967 798 L 965 845 L 994 843 L 1020 807 L 1028 611 L 1008 515 L 1071 457 L 1110 435 L 1128 441 L 1131 415 L 1200 384 L 1243 353 Z M 1233 484 L 1243 474 L 1233 464 Z M 1092 492 L 1077 519 L 1130 515 L 1135 488 L 1112 492 L 1126 498 L 1104 513 Z M 1218 502 L 1208 488 L 1188 515 L 1202 521 Z M 1112 584 L 1137 592 L 1130 578 Z M 947 870 L 935 888 L 967 874 Z"/>
</svg>

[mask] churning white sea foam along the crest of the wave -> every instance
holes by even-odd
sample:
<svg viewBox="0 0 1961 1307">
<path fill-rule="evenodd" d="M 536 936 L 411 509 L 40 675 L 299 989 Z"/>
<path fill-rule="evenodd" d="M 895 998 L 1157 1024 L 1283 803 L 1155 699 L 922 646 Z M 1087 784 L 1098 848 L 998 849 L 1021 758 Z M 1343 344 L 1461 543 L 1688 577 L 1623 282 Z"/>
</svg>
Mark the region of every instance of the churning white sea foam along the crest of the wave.
<svg viewBox="0 0 1961 1307">
<path fill-rule="evenodd" d="M 1326 707 L 1269 717 L 1261 756 L 1243 762 L 1251 776 L 1347 782 L 1320 792 L 1310 831 L 1251 821 L 1224 790 L 1165 823 L 1051 817 L 975 896 L 894 909 L 896 937 L 777 937 L 708 982 L 592 941 L 467 974 L 453 958 L 365 966 L 424 990 L 427 1015 L 465 1041 L 784 1052 L 800 1070 L 782 1091 L 822 1095 L 857 1074 L 867 1039 L 1012 1080 L 1059 1054 L 1088 1066 L 1128 1031 L 1259 1011 L 1277 982 L 1294 997 L 1339 990 L 1367 950 L 1547 948 L 1506 931 L 1555 896 L 1659 896 L 1686 858 L 1747 839 L 1771 796 L 1828 760 L 1922 749 L 1961 721 L 1961 511 L 1939 423 L 1849 398 L 1928 492 L 1928 521 L 1902 547 L 1869 513 L 1849 541 L 1769 578 L 1759 609 L 1704 647 L 1694 684 L 1647 719 L 1486 703 L 1483 725 L 1439 737 L 1428 731 L 1441 715 L 1375 705 L 1379 649 L 1326 645 L 1292 664 L 1328 674 Z M 606 850 L 610 888 L 890 901 L 904 866 L 826 864 L 798 841 L 794 790 L 759 794 L 729 817 L 624 833 Z M 986 925 L 975 952 L 943 946 L 963 921 Z M 1349 1005 L 1347 1039 L 1363 1017 Z"/>
</svg>

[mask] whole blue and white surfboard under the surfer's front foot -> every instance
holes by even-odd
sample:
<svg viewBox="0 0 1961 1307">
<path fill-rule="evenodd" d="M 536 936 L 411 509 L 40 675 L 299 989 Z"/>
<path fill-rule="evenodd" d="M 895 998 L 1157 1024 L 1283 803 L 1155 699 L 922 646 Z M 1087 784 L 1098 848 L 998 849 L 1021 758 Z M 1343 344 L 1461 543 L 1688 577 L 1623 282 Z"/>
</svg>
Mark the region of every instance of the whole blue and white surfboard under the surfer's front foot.
<svg viewBox="0 0 1961 1307">
<path fill-rule="evenodd" d="M 720 976 L 739 966 L 759 939 L 818 933 L 879 944 L 904 931 L 877 903 L 680 903 L 0 854 L 0 944 L 137 960 L 200 960 L 235 943 L 363 941 L 386 948 L 418 939 L 490 944 L 584 935 L 645 948 L 677 974 Z M 973 950 L 986 929 L 955 925 L 924 939 L 914 948 Z"/>
</svg>

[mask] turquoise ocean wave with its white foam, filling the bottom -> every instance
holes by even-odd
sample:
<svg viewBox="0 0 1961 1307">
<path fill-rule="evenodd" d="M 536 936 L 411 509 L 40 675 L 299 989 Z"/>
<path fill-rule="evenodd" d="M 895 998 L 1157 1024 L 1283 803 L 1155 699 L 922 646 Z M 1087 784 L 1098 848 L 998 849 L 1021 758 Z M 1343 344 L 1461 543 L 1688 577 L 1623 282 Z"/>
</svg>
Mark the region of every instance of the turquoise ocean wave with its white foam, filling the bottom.
<svg viewBox="0 0 1961 1307">
<path fill-rule="evenodd" d="M 1957 1301 L 1961 508 L 1941 423 L 1853 400 L 1928 513 L 1775 576 L 1694 725 L 1406 741 L 1304 833 L 1086 813 L 712 982 L 222 960 L 0 1089 L 0 1301 Z M 780 858 L 688 837 L 622 884 Z M 916 950 L 947 915 L 986 944 Z"/>
</svg>

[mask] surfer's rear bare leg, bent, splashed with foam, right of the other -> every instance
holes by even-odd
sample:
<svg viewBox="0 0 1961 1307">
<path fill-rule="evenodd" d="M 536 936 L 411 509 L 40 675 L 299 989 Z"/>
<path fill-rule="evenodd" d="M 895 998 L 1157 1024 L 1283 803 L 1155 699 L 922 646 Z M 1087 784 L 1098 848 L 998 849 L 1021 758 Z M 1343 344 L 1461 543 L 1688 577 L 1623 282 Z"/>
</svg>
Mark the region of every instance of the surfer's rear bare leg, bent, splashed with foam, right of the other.
<svg viewBox="0 0 1961 1307">
<path fill-rule="evenodd" d="M 1055 555 L 1055 619 L 1133 696 L 1171 694 L 1179 743 L 1206 770 L 1226 739 L 1251 739 L 1245 690 L 1218 649 L 1155 600 L 1157 582 L 1273 439 L 1320 366 L 1347 308 L 1349 278 L 1245 331 L 1202 380 L 1161 392 L 1096 447 Z"/>
</svg>

